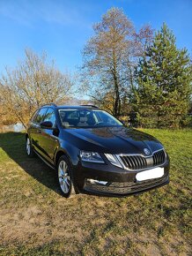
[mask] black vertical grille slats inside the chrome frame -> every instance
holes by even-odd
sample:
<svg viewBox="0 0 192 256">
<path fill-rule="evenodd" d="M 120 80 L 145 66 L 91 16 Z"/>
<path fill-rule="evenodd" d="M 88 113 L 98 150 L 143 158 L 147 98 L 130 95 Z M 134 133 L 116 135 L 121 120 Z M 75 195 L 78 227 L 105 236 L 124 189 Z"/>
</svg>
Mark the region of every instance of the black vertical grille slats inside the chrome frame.
<svg viewBox="0 0 192 256">
<path fill-rule="evenodd" d="M 163 149 L 150 157 L 143 155 L 120 155 L 119 157 L 126 169 L 147 169 L 166 162 L 166 154 Z"/>
</svg>

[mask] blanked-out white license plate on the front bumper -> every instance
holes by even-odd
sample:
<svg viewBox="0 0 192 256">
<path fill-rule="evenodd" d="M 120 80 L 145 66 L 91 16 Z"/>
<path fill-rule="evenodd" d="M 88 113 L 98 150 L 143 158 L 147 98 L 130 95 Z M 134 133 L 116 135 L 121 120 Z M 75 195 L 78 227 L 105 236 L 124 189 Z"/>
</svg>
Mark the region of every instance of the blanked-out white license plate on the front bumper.
<svg viewBox="0 0 192 256">
<path fill-rule="evenodd" d="M 157 167 L 157 168 L 147 169 L 147 170 L 138 172 L 136 175 L 136 179 L 137 181 L 143 181 L 146 179 L 162 177 L 163 175 L 164 175 L 164 168 Z"/>
</svg>

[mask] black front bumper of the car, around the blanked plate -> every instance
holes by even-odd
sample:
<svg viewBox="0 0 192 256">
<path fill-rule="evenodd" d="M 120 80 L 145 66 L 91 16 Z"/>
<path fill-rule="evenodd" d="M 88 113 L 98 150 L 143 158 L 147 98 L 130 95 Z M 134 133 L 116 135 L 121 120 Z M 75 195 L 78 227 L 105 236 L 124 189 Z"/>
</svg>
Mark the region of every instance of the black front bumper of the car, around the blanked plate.
<svg viewBox="0 0 192 256">
<path fill-rule="evenodd" d="M 169 183 L 169 159 L 161 167 L 164 168 L 163 177 L 138 182 L 136 175 L 140 171 L 121 169 L 111 164 L 83 162 L 77 173 L 80 191 L 107 196 L 126 196 L 149 191 Z M 105 181 L 106 184 L 92 183 L 92 180 Z"/>
</svg>

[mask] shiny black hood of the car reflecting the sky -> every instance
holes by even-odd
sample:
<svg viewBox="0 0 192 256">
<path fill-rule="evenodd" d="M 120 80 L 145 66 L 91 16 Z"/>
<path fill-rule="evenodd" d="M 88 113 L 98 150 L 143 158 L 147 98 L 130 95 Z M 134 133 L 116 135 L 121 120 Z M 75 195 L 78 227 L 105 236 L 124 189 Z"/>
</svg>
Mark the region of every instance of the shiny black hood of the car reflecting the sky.
<svg viewBox="0 0 192 256">
<path fill-rule="evenodd" d="M 144 154 L 163 148 L 158 139 L 127 127 L 67 129 L 65 138 L 81 150 L 110 154 Z M 65 136 L 65 135 L 64 135 Z"/>
</svg>

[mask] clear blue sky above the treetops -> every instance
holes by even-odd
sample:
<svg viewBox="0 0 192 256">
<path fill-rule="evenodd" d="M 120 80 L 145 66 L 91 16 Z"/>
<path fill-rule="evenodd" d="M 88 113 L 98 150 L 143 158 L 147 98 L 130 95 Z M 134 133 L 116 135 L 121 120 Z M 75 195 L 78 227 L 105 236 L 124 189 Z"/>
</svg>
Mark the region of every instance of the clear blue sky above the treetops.
<svg viewBox="0 0 192 256">
<path fill-rule="evenodd" d="M 14 68 L 26 48 L 45 50 L 60 70 L 75 71 L 92 24 L 113 6 L 137 29 L 147 23 L 159 29 L 165 21 L 177 46 L 192 53 L 192 0 L 0 0 L 0 72 Z"/>
</svg>

